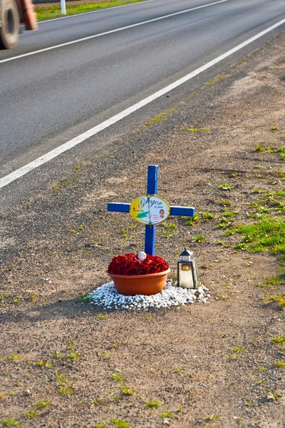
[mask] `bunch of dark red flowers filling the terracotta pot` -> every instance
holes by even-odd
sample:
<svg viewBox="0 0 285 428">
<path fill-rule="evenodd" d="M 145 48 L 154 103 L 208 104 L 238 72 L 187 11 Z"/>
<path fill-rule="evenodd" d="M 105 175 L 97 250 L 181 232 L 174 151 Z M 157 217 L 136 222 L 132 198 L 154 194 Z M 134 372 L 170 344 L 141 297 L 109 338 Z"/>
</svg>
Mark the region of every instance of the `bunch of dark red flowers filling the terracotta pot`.
<svg viewBox="0 0 285 428">
<path fill-rule="evenodd" d="M 169 266 L 166 261 L 157 255 L 149 255 L 145 260 L 138 260 L 133 253 L 114 257 L 108 267 L 111 275 L 147 275 L 148 273 L 164 272 Z"/>
</svg>

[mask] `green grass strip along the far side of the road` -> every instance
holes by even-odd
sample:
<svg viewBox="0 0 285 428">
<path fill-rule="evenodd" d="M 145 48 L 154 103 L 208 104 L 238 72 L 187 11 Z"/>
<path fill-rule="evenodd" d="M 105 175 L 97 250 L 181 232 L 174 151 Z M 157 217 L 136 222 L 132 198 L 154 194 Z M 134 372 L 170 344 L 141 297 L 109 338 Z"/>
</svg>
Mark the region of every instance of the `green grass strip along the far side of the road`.
<svg viewBox="0 0 285 428">
<path fill-rule="evenodd" d="M 72 3 L 66 4 L 66 15 L 82 14 L 84 12 L 95 11 L 98 9 L 107 9 L 114 6 L 123 6 L 124 4 L 138 3 L 144 0 L 111 0 L 111 1 L 98 1 L 98 3 Z M 61 14 L 61 6 L 54 4 L 51 6 L 36 6 L 36 18 L 38 21 L 44 21 L 45 19 L 58 18 L 63 16 Z"/>
</svg>

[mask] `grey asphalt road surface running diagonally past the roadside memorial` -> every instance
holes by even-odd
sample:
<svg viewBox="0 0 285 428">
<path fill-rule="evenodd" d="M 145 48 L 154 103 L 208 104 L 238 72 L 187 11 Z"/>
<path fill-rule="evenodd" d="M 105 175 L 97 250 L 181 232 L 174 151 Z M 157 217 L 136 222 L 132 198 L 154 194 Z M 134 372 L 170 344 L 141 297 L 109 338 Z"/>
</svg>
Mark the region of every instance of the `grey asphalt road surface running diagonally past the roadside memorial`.
<svg viewBox="0 0 285 428">
<path fill-rule="evenodd" d="M 0 178 L 284 18 L 284 0 L 151 0 L 47 21 L 38 31 L 24 31 L 16 49 L 0 51 Z M 138 127 L 284 29 L 285 24 L 167 98 L 89 138 L 70 156 L 88 158 L 88 151 Z M 88 39 L 77 41 L 83 38 Z M 68 44 L 71 41 L 76 42 Z M 44 50 L 59 44 L 66 46 Z M 15 195 L 21 186 L 51 179 L 62 163 L 53 160 L 41 166 L 41 176 L 32 171 L 16 185 L 0 189 L 0 195 L 7 198 L 9 186 Z"/>
</svg>

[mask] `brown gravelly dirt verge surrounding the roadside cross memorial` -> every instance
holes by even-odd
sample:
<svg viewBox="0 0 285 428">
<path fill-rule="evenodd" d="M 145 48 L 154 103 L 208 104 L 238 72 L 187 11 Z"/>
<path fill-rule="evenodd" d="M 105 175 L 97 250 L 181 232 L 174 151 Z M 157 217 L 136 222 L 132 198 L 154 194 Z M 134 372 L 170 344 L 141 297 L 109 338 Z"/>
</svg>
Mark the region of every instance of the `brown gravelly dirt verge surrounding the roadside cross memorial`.
<svg viewBox="0 0 285 428">
<path fill-rule="evenodd" d="M 281 34 L 1 213 L 3 426 L 285 427 L 284 368 L 276 366 L 285 352 L 272 342 L 284 336 L 284 310 L 266 303 L 284 283 L 257 286 L 277 275 L 280 255 L 236 252 L 239 235 L 225 236 L 264 210 L 252 205 L 258 189 L 284 190 L 285 161 L 257 149 L 285 147 L 284 85 Z M 114 255 L 143 249 L 143 227 L 106 207 L 145 193 L 149 164 L 160 168 L 158 195 L 201 217 L 157 226 L 156 253 L 175 280 L 186 243 L 211 297 L 106 313 L 78 297 L 108 282 Z"/>
</svg>

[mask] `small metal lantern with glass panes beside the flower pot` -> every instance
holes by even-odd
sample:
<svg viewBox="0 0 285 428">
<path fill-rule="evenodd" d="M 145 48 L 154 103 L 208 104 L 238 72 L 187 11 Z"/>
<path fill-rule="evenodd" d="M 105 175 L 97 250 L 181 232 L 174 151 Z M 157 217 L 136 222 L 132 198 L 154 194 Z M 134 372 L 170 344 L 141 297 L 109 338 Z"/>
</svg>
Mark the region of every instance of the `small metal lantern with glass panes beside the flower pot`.
<svg viewBox="0 0 285 428">
<path fill-rule="evenodd" d="M 185 250 L 180 254 L 177 262 L 177 286 L 182 288 L 197 288 L 199 274 L 196 260 L 191 251 Z"/>
</svg>

